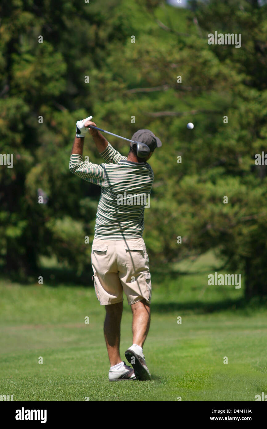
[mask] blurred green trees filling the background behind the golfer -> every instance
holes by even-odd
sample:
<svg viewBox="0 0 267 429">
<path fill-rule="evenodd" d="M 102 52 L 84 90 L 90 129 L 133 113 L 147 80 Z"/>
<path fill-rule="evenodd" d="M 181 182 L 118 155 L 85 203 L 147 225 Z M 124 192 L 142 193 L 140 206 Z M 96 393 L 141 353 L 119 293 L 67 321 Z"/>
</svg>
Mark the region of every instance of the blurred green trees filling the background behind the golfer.
<svg viewBox="0 0 267 429">
<path fill-rule="evenodd" d="M 266 2 L 189 3 L 1 2 L 0 153 L 14 154 L 13 168 L 0 166 L 3 270 L 26 278 L 44 256 L 78 275 L 90 268 L 84 237 L 92 243 L 100 188 L 68 164 L 76 121 L 93 115 L 113 133 L 149 128 L 163 142 L 145 210 L 152 269 L 212 249 L 245 276 L 247 297 L 267 295 L 266 166 L 255 165 L 267 151 Z M 241 48 L 209 45 L 215 31 L 241 33 Z M 102 162 L 90 136 L 84 155 Z"/>
</svg>

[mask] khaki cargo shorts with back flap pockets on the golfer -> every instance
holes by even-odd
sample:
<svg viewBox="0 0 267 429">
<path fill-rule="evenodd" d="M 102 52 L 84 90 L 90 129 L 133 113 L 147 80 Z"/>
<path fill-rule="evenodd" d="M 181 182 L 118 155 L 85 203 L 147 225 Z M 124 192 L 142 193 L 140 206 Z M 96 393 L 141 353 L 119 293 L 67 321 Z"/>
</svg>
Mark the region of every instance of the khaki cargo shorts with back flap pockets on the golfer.
<svg viewBox="0 0 267 429">
<path fill-rule="evenodd" d="M 142 238 L 132 240 L 94 239 L 92 267 L 95 291 L 100 305 L 123 301 L 128 304 L 151 301 L 151 275 Z"/>
</svg>

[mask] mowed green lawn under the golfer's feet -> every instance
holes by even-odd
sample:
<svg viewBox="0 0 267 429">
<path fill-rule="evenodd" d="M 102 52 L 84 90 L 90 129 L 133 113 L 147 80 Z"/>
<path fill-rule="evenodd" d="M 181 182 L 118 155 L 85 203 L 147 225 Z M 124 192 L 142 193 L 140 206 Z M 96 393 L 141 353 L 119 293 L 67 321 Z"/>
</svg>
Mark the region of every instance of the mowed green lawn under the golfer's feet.
<svg viewBox="0 0 267 429">
<path fill-rule="evenodd" d="M 13 394 L 14 401 L 255 401 L 267 393 L 267 309 L 240 305 L 242 295 L 242 287 L 207 286 L 206 272 L 164 284 L 153 275 L 144 346 L 152 381 L 110 383 L 105 308 L 92 287 L 2 280 L 0 394 Z M 123 360 L 131 321 L 125 300 Z"/>
</svg>

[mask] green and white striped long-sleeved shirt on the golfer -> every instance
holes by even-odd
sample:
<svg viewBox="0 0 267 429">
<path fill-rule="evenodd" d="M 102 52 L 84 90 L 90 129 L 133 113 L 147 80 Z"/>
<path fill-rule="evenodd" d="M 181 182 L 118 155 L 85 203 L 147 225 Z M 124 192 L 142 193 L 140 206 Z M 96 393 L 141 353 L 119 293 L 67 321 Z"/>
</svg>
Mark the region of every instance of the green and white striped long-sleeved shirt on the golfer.
<svg viewBox="0 0 267 429">
<path fill-rule="evenodd" d="M 150 202 L 153 170 L 146 162 L 127 161 L 110 143 L 100 155 L 105 164 L 83 161 L 77 154 L 72 154 L 69 161 L 72 173 L 101 186 L 95 238 L 140 238 L 144 231 L 144 208 Z"/>
</svg>

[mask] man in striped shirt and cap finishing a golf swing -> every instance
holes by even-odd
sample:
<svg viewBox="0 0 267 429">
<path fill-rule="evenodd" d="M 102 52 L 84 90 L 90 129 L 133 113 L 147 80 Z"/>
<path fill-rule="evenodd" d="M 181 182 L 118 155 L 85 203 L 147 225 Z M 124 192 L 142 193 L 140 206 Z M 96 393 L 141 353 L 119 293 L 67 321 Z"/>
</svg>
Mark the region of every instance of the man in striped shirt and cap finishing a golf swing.
<svg viewBox="0 0 267 429">
<path fill-rule="evenodd" d="M 84 162 L 84 136 L 90 125 L 96 127 L 91 119 L 92 116 L 76 124 L 69 169 L 84 180 L 101 186 L 92 266 L 96 296 L 106 309 L 104 335 L 111 365 L 108 378 L 110 381 L 150 380 L 142 347 L 150 326 L 151 276 L 142 235 L 146 196 L 150 197 L 154 178 L 147 160 L 162 143 L 150 130 L 139 130 L 132 140 L 145 143 L 150 153 L 140 158 L 135 146 L 131 146 L 128 157 L 124 157 L 98 130 L 89 128 L 106 163 Z M 120 358 L 123 291 L 133 314 L 133 342 L 125 352 L 133 368 Z"/>
</svg>

